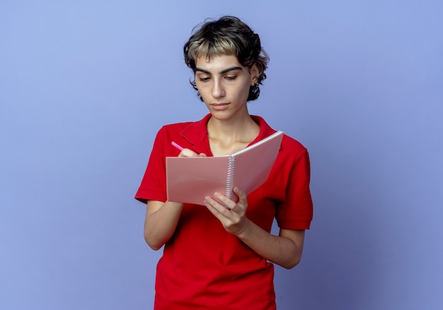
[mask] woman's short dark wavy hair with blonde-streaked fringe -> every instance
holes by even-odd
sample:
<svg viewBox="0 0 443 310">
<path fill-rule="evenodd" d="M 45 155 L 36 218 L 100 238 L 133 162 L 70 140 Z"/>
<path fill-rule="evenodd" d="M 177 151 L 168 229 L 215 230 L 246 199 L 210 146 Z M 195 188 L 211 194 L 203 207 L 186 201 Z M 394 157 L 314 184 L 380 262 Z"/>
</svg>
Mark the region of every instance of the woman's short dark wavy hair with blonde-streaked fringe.
<svg viewBox="0 0 443 310">
<path fill-rule="evenodd" d="M 248 25 L 234 16 L 223 16 L 219 20 L 205 20 L 200 26 L 192 30 L 192 35 L 183 47 L 185 63 L 195 73 L 195 61 L 200 56 L 234 55 L 242 66 L 258 68 L 258 77 L 255 85 L 249 89 L 248 100 L 255 100 L 260 95 L 260 88 L 266 78 L 265 70 L 269 56 L 261 47 L 260 37 Z M 194 81 L 190 82 L 197 90 L 197 95 L 202 99 Z"/>
</svg>

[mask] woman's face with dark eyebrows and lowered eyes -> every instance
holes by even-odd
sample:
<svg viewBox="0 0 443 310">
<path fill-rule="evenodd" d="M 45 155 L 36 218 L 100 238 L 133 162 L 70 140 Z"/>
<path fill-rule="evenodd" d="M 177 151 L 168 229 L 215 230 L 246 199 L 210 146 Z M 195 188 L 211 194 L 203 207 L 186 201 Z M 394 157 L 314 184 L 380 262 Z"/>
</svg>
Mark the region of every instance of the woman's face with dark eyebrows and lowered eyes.
<svg viewBox="0 0 443 310">
<path fill-rule="evenodd" d="M 195 83 L 212 116 L 229 119 L 248 113 L 249 88 L 257 81 L 255 66 L 242 66 L 236 56 L 200 56 L 195 61 Z"/>
</svg>

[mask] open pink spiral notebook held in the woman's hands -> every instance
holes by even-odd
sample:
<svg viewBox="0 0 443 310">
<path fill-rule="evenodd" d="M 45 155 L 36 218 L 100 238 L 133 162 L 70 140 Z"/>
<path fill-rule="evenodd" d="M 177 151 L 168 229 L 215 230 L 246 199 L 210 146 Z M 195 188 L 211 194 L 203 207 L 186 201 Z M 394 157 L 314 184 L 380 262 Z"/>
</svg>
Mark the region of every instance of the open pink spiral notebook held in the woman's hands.
<svg viewBox="0 0 443 310">
<path fill-rule="evenodd" d="M 205 196 L 224 193 L 233 201 L 234 186 L 251 193 L 265 183 L 277 158 L 283 132 L 231 155 L 215 157 L 166 157 L 168 201 L 203 205 Z"/>
</svg>

